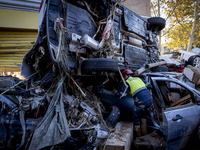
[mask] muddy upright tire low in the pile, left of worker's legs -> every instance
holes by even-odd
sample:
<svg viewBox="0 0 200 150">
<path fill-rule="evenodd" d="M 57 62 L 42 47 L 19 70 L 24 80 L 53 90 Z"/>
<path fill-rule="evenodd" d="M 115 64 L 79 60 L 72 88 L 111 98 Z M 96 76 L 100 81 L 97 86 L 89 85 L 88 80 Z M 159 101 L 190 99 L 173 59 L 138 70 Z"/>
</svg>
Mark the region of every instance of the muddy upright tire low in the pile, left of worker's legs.
<svg viewBox="0 0 200 150">
<path fill-rule="evenodd" d="M 116 106 L 111 106 L 110 114 L 106 119 L 106 123 L 107 123 L 108 127 L 112 127 L 113 128 L 117 124 L 119 116 L 120 116 L 119 108 L 116 107 Z"/>
</svg>

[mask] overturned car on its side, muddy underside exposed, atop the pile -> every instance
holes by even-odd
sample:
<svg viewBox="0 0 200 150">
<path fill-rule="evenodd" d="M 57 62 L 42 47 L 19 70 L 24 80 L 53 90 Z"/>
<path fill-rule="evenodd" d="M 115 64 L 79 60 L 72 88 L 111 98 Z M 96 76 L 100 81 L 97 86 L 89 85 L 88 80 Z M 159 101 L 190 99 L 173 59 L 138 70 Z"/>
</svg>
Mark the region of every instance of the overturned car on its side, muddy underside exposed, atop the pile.
<svg viewBox="0 0 200 150">
<path fill-rule="evenodd" d="M 43 0 L 38 26 L 36 43 L 22 62 L 25 77 L 50 62 L 64 62 L 75 75 L 158 62 L 157 34 L 165 20 L 143 18 L 119 1 Z"/>
</svg>

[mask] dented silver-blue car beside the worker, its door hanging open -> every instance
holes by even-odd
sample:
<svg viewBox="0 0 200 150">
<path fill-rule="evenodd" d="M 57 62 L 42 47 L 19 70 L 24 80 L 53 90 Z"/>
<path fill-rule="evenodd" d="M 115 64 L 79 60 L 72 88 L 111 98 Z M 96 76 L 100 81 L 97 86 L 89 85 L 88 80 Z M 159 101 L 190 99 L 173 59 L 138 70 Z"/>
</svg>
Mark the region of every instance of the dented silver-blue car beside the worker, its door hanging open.
<svg viewBox="0 0 200 150">
<path fill-rule="evenodd" d="M 200 124 L 200 92 L 173 76 L 165 73 L 146 73 L 140 76 L 153 86 L 151 89 L 153 107 L 146 118 L 147 131 L 151 133 L 152 129 L 156 130 L 165 139 L 164 143 L 158 141 L 155 149 L 182 149 L 188 142 L 197 138 Z M 107 86 L 104 86 L 99 93 L 104 103 L 117 106 L 121 111 L 133 112 L 132 97 L 116 98 Z M 139 137 L 135 144 L 151 146 L 152 143 L 147 144 L 149 139 L 147 141 L 144 139 Z"/>
</svg>

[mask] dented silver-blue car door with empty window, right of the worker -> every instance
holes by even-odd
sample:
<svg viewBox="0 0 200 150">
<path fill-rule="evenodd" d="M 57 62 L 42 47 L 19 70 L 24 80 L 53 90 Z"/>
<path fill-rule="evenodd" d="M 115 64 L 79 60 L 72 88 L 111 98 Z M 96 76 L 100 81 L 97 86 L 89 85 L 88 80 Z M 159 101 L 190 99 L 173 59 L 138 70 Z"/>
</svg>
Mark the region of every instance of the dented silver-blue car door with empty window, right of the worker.
<svg viewBox="0 0 200 150">
<path fill-rule="evenodd" d="M 200 106 L 197 105 L 195 98 L 197 96 L 199 97 L 199 95 L 196 95 L 191 87 L 188 87 L 175 79 L 152 77 L 152 81 L 161 103 L 164 104 L 165 102 L 163 100 L 162 91 L 160 90 L 160 85 L 158 84 L 160 82 L 170 83 L 171 86 L 181 88 L 181 90 L 184 88 L 186 92 L 190 93 L 191 99 L 185 104 L 171 107 L 166 107 L 166 105 L 162 106 L 162 129 L 164 135 L 166 136 L 166 149 L 181 149 L 185 147 L 191 138 L 192 133 L 194 133 L 199 126 Z"/>
</svg>

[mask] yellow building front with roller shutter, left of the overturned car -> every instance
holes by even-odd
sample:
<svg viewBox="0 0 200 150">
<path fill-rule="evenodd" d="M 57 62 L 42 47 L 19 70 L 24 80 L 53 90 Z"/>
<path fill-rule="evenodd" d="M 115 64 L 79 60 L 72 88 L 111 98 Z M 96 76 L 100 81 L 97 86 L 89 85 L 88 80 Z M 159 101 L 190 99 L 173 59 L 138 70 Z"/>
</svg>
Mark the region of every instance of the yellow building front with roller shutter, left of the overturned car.
<svg viewBox="0 0 200 150">
<path fill-rule="evenodd" d="M 19 72 L 37 37 L 40 0 L 0 1 L 0 72 Z"/>
</svg>

